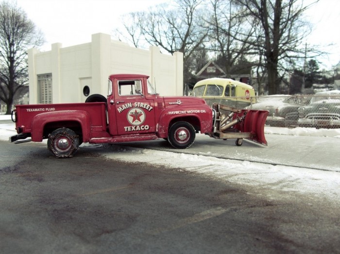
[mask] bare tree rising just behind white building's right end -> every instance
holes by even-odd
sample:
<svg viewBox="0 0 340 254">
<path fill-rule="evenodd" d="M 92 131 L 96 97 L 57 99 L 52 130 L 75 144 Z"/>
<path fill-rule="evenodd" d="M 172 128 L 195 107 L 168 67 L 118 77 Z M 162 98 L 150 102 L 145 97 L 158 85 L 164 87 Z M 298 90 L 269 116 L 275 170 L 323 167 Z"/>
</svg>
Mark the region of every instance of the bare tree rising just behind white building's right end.
<svg viewBox="0 0 340 254">
<path fill-rule="evenodd" d="M 204 48 L 207 29 L 199 8 L 201 0 L 174 0 L 172 5 L 161 4 L 147 12 L 129 14 L 129 23 L 124 22 L 130 40 L 137 46 L 141 41 L 159 46 L 161 50 L 173 54 L 183 53 L 184 82 L 190 79 L 191 56 Z M 137 15 L 137 16 L 136 16 Z M 134 20 L 134 23 L 131 23 Z M 143 39 L 141 39 L 141 37 Z M 137 43 L 136 43 L 137 42 Z"/>
</svg>

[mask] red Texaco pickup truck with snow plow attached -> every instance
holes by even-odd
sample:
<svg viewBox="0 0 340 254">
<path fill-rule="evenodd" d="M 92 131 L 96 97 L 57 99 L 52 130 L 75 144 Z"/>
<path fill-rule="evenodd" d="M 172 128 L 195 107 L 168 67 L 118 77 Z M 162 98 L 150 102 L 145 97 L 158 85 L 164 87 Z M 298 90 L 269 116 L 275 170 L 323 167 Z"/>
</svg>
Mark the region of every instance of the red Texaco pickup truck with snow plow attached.
<svg viewBox="0 0 340 254">
<path fill-rule="evenodd" d="M 116 143 L 164 138 L 177 149 L 192 145 L 196 133 L 214 138 L 248 138 L 267 145 L 267 111 L 214 104 L 195 97 L 159 96 L 146 75 L 115 74 L 108 95 L 87 102 L 17 105 L 12 112 L 17 135 L 10 141 L 41 142 L 56 157 L 72 157 L 83 142 Z M 225 112 L 225 114 L 222 114 Z M 27 139 L 31 137 L 31 139 Z M 22 139 L 22 140 L 20 140 Z"/>
</svg>

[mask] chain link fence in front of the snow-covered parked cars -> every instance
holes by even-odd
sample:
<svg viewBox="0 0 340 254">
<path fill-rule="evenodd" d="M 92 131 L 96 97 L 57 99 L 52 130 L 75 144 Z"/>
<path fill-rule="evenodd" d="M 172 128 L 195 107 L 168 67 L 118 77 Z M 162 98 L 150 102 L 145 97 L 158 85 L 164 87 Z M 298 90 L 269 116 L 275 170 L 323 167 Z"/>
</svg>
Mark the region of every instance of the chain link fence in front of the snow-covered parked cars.
<svg viewBox="0 0 340 254">
<path fill-rule="evenodd" d="M 340 91 L 314 95 L 271 95 L 251 98 L 205 99 L 236 108 L 267 110 L 266 125 L 274 127 L 340 128 Z M 248 101 L 248 102 L 244 102 Z M 228 112 L 222 112 L 228 115 Z"/>
</svg>

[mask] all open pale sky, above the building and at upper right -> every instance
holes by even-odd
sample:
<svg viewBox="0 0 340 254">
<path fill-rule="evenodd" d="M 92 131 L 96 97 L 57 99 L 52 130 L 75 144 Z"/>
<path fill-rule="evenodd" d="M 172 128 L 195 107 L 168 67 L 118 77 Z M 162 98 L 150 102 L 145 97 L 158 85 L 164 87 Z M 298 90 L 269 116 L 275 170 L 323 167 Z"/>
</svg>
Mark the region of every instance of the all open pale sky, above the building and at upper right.
<svg viewBox="0 0 340 254">
<path fill-rule="evenodd" d="M 60 42 L 63 47 L 87 43 L 91 34 L 113 34 L 121 26 L 120 16 L 147 10 L 168 0 L 17 0 L 28 17 L 45 34 L 42 51 L 50 51 L 51 44 Z M 302 1 L 302 0 L 301 0 Z M 314 0 L 304 0 L 310 3 Z M 321 59 L 331 68 L 340 62 L 340 1 L 320 0 L 306 12 L 315 29 L 305 43 L 334 44 L 325 49 L 331 53 Z"/>
</svg>

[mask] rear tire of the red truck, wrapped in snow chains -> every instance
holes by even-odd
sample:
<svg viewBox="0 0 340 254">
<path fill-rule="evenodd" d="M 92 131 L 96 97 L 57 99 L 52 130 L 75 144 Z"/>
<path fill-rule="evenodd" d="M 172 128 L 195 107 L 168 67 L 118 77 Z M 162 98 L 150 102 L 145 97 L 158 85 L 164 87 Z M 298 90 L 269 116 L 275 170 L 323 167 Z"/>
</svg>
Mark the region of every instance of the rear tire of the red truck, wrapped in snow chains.
<svg viewBox="0 0 340 254">
<path fill-rule="evenodd" d="M 56 129 L 49 135 L 47 148 L 58 158 L 73 157 L 79 150 L 79 136 L 68 128 Z"/>
</svg>

